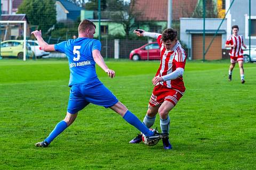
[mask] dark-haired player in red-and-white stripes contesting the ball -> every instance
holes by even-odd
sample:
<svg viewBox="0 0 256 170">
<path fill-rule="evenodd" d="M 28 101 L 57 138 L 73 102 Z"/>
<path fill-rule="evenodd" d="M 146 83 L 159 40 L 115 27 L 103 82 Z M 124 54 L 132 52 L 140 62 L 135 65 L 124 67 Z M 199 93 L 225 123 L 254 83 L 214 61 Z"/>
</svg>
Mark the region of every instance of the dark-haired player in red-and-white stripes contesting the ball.
<svg viewBox="0 0 256 170">
<path fill-rule="evenodd" d="M 185 92 L 182 75 L 185 69 L 186 55 L 177 40 L 177 31 L 166 29 L 160 33 L 146 32 L 137 29 L 133 31 L 137 36 L 148 36 L 157 39 L 161 48 L 161 62 L 155 77 L 152 80 L 154 87 L 149 100 L 148 111 L 143 123 L 150 128 L 155 123 L 156 114 L 160 116 L 162 133 L 169 133 L 170 117 L 169 112 L 178 103 Z M 163 140 L 164 149 L 172 149 L 169 137 Z M 130 143 L 141 142 L 141 134 L 132 139 Z"/>
</svg>

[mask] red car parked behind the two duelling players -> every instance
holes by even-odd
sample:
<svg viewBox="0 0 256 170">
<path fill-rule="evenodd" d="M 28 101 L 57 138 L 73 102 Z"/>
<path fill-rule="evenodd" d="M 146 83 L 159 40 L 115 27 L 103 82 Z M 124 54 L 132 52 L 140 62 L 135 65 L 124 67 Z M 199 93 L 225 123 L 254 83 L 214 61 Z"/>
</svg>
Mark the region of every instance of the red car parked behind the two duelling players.
<svg viewBox="0 0 256 170">
<path fill-rule="evenodd" d="M 148 43 L 140 48 L 133 49 L 130 53 L 130 60 L 160 60 L 160 47 L 157 42 Z"/>
</svg>

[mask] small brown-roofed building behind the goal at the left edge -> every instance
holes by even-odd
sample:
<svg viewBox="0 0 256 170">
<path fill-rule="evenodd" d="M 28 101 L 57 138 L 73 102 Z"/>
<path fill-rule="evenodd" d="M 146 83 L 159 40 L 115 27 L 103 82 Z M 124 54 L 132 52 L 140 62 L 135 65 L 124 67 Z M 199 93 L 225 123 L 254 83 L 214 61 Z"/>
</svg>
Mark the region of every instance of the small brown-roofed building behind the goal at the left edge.
<svg viewBox="0 0 256 170">
<path fill-rule="evenodd" d="M 29 22 L 26 14 L 3 14 L 2 21 L 26 21 L 27 35 L 30 36 Z M 2 40 L 17 39 L 23 36 L 24 25 L 22 23 L 2 23 L 1 24 L 1 38 Z"/>
</svg>

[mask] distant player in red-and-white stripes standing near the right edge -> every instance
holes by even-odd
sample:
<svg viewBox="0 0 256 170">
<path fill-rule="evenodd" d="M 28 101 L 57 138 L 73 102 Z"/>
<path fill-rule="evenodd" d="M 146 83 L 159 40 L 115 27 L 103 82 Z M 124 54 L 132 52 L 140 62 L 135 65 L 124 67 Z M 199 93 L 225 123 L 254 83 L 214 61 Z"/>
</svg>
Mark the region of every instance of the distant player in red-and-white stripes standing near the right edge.
<svg viewBox="0 0 256 170">
<path fill-rule="evenodd" d="M 239 65 L 239 69 L 240 69 L 240 76 L 241 76 L 241 83 L 245 83 L 244 80 L 244 66 L 243 66 L 243 61 L 244 61 L 244 57 L 243 57 L 243 49 L 242 46 L 244 48 L 246 48 L 246 46 L 244 45 L 244 39 L 243 36 L 238 35 L 238 25 L 233 25 L 232 26 L 232 35 L 229 36 L 228 40 L 226 41 L 226 45 L 225 47 L 231 47 L 230 50 L 230 67 L 229 67 L 229 71 L 228 71 L 228 80 L 231 81 L 232 80 L 232 71 L 236 65 L 236 62 Z"/>
</svg>

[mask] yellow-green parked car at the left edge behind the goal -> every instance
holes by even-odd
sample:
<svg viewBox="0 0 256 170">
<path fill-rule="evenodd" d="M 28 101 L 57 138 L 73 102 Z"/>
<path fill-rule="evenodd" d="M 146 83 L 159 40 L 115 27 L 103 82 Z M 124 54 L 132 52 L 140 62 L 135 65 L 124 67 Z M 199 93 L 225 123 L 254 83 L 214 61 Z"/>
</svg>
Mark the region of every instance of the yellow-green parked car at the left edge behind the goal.
<svg viewBox="0 0 256 170">
<path fill-rule="evenodd" d="M 6 40 L 1 42 L 1 56 L 23 59 L 23 40 Z M 26 57 L 34 58 L 35 54 L 30 45 L 26 44 Z"/>
</svg>

